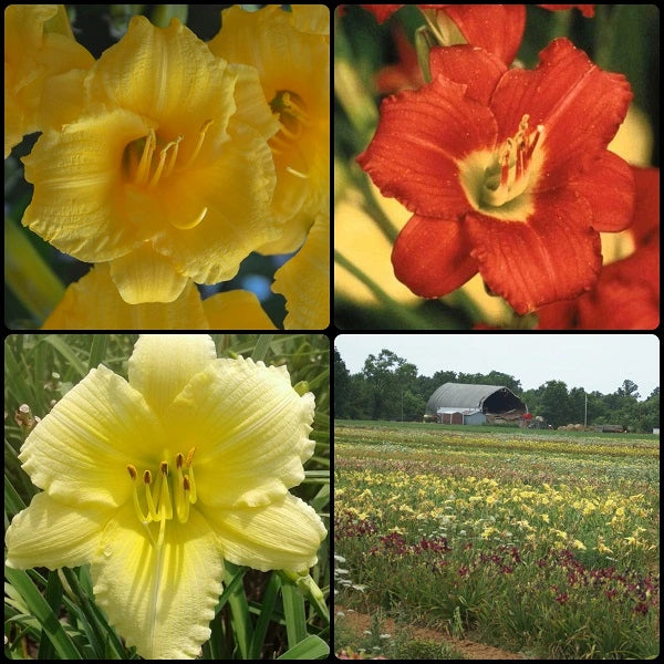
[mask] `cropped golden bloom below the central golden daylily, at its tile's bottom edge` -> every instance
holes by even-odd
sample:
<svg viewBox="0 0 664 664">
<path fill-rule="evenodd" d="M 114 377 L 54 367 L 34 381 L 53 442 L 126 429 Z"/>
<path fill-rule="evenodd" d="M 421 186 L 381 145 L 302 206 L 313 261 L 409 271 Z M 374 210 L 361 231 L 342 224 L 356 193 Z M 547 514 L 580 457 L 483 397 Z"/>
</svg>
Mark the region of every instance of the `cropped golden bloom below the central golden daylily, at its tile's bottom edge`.
<svg viewBox="0 0 664 664">
<path fill-rule="evenodd" d="M 68 287 L 42 330 L 276 330 L 249 291 L 217 293 L 200 300 L 188 281 L 174 302 L 127 304 L 100 263 Z"/>
</svg>

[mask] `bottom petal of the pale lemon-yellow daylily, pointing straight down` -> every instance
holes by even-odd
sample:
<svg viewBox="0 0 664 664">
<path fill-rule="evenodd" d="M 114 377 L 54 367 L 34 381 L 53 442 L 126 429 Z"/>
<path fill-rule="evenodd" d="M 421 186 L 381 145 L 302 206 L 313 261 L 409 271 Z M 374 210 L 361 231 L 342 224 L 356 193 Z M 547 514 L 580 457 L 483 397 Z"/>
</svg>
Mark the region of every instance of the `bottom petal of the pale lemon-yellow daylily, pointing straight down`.
<svg viewBox="0 0 664 664">
<path fill-rule="evenodd" d="M 91 573 L 98 605 L 142 657 L 198 656 L 210 636 L 224 563 L 215 533 L 195 508 L 186 523 L 167 522 L 158 550 L 133 509 L 122 510 L 103 533 Z"/>
</svg>

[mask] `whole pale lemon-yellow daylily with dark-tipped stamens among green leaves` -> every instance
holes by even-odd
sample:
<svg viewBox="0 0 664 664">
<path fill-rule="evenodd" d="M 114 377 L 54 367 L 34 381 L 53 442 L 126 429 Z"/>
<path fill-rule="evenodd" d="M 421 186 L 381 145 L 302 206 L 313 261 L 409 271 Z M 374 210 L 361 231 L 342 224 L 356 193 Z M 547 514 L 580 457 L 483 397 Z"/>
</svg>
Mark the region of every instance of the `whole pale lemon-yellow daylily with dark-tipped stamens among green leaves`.
<svg viewBox="0 0 664 664">
<path fill-rule="evenodd" d="M 289 492 L 313 411 L 283 366 L 217 359 L 208 335 L 141 336 L 128 382 L 101 364 L 25 439 L 43 491 L 10 525 L 7 564 L 91 563 L 97 603 L 141 656 L 196 657 L 224 559 L 317 562 L 325 528 Z"/>
</svg>

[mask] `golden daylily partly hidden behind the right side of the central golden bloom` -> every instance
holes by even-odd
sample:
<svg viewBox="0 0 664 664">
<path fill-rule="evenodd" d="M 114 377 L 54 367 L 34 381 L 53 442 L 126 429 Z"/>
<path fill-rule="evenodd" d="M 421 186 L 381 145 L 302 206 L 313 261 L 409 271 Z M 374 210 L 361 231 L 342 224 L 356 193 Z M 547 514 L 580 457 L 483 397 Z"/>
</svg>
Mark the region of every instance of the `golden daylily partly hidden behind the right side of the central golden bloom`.
<svg viewBox="0 0 664 664">
<path fill-rule="evenodd" d="M 264 98 L 279 121 L 270 147 L 277 167 L 272 209 L 286 221 L 262 253 L 298 249 L 330 189 L 330 13 L 324 6 L 272 4 L 249 12 L 238 6 L 221 12 L 221 30 L 210 51 L 258 70 Z M 322 8 L 322 9 L 321 9 Z M 241 113 L 241 111 L 240 111 Z"/>
</svg>

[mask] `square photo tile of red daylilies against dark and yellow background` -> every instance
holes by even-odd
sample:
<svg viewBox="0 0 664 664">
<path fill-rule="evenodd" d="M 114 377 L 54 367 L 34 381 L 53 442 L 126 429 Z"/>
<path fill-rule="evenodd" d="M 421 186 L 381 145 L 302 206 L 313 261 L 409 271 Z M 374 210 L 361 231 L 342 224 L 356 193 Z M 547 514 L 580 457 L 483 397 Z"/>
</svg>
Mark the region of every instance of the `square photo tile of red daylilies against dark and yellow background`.
<svg viewBox="0 0 664 664">
<path fill-rule="evenodd" d="M 338 323 L 655 329 L 656 12 L 338 12 Z"/>
</svg>

